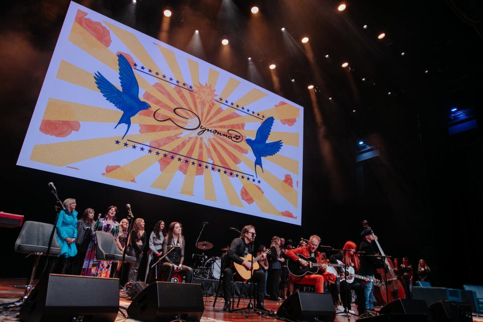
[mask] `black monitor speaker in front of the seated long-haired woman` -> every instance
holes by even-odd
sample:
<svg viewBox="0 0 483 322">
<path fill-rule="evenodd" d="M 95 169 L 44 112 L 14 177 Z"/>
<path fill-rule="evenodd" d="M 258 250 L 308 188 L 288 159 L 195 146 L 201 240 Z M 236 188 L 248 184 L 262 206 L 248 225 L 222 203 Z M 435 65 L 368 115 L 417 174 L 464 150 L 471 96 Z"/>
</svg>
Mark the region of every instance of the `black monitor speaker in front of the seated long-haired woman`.
<svg viewBox="0 0 483 322">
<path fill-rule="evenodd" d="M 201 284 L 155 282 L 134 298 L 127 314 L 141 321 L 199 321 L 203 310 Z"/>
</svg>

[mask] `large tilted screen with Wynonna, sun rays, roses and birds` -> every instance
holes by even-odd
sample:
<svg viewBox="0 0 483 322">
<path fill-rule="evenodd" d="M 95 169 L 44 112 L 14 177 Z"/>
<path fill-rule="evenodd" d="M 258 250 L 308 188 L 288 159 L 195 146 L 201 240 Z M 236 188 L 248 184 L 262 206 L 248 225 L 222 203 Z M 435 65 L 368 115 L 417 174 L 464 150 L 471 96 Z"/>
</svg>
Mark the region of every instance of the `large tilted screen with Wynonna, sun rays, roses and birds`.
<svg viewBox="0 0 483 322">
<path fill-rule="evenodd" d="M 18 165 L 301 223 L 303 109 L 71 3 Z"/>
</svg>

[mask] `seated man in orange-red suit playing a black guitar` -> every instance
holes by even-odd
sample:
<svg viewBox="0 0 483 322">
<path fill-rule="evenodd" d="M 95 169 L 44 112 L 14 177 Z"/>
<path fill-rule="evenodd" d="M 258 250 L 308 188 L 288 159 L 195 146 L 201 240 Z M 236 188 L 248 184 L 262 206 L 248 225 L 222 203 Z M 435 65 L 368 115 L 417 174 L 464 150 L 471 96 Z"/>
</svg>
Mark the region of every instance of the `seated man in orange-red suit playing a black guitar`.
<svg viewBox="0 0 483 322">
<path fill-rule="evenodd" d="M 317 260 L 318 264 L 322 264 L 321 254 L 317 252 L 317 248 L 319 244 L 320 244 L 320 237 L 317 235 L 311 235 L 307 246 L 298 247 L 293 250 L 287 250 L 285 252 L 285 256 L 288 257 L 293 262 L 298 262 L 298 264 L 302 268 L 309 268 L 310 263 L 298 257 L 297 254 L 300 254 L 304 257 L 313 257 Z M 320 265 L 320 270 L 325 270 L 326 268 L 327 268 L 327 265 L 324 265 L 324 264 Z M 307 273 L 302 277 L 298 277 L 298 276 L 294 276 L 293 274 L 290 274 L 290 277 L 292 281 L 295 283 L 315 285 L 315 291 L 317 293 L 324 293 L 325 279 L 335 280 L 335 276 L 332 273 L 319 273 L 319 274 Z"/>
</svg>

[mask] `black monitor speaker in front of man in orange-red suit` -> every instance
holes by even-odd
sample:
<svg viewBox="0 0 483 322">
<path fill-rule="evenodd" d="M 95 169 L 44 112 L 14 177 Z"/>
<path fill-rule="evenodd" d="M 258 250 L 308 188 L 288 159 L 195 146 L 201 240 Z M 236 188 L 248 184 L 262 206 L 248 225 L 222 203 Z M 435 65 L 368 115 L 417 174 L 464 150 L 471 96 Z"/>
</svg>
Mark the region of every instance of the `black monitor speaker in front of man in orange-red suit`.
<svg viewBox="0 0 483 322">
<path fill-rule="evenodd" d="M 289 320 L 312 321 L 316 319 L 320 322 L 333 322 L 336 318 L 332 295 L 313 292 L 291 294 L 280 305 L 277 315 Z"/>
</svg>

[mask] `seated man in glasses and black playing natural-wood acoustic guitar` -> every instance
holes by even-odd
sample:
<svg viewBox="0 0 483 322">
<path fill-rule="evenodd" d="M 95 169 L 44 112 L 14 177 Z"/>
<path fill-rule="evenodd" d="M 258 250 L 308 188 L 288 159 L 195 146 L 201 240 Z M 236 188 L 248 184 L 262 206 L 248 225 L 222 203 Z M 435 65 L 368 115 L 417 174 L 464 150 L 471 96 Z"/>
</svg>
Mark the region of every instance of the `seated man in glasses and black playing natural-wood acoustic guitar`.
<svg viewBox="0 0 483 322">
<path fill-rule="evenodd" d="M 223 310 L 230 310 L 230 299 L 233 294 L 232 281 L 233 274 L 236 272 L 234 270 L 233 262 L 245 266 L 248 270 L 252 269 L 252 262 L 244 261 L 240 257 L 247 257 L 248 254 L 253 252 L 253 242 L 255 241 L 255 227 L 252 225 L 247 225 L 241 229 L 241 234 L 238 238 L 231 241 L 230 249 L 228 250 L 228 255 L 224 263 L 223 269 L 223 295 L 225 297 L 225 305 Z M 264 254 L 262 259 L 265 259 Z M 264 284 L 265 284 L 265 273 L 261 271 L 252 272 L 252 282 L 257 283 L 257 306 L 256 308 L 263 311 L 268 311 L 268 309 L 263 304 L 264 300 Z M 236 274 L 235 276 L 237 276 Z"/>
</svg>

